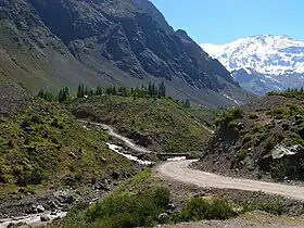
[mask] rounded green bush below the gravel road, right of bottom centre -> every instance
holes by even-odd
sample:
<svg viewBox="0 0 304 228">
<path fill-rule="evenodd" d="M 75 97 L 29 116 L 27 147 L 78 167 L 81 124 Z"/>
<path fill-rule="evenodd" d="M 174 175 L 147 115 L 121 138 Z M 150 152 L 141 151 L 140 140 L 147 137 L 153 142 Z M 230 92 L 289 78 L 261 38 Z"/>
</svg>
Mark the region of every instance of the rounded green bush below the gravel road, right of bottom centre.
<svg viewBox="0 0 304 228">
<path fill-rule="evenodd" d="M 195 197 L 189 200 L 186 207 L 177 215 L 176 221 L 203 219 L 227 219 L 235 216 L 232 206 L 224 200 L 207 201 Z"/>
</svg>

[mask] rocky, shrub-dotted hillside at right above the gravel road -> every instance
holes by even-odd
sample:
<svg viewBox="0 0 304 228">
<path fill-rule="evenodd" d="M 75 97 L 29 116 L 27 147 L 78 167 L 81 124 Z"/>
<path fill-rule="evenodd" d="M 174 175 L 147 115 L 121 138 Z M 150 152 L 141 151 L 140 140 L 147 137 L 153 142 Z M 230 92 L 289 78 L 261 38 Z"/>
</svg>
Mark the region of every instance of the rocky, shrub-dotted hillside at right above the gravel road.
<svg viewBox="0 0 304 228">
<path fill-rule="evenodd" d="M 301 91 L 273 92 L 242 110 L 227 111 L 198 167 L 258 179 L 303 180 L 303 98 Z"/>
</svg>

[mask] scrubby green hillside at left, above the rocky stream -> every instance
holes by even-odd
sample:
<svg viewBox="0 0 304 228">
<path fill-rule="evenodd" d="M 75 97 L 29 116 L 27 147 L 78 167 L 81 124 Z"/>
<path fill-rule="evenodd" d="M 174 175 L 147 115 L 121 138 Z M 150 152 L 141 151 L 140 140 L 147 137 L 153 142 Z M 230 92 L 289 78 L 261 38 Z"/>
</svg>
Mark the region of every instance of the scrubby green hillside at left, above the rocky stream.
<svg viewBox="0 0 304 228">
<path fill-rule="evenodd" d="M 13 119 L 0 121 L 0 192 L 30 183 L 80 185 L 131 169 L 104 144 L 107 135 L 86 130 L 58 104 L 35 99 Z"/>
</svg>

